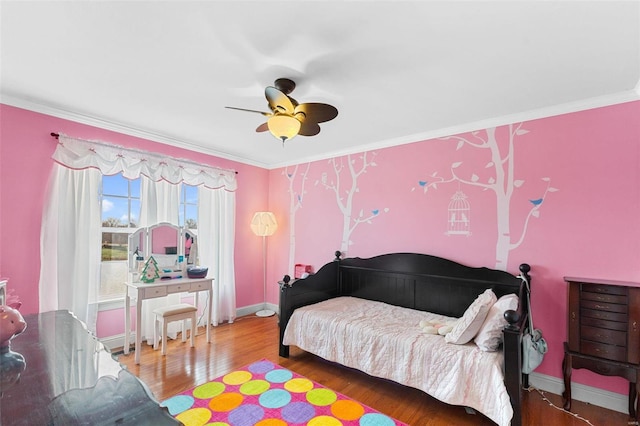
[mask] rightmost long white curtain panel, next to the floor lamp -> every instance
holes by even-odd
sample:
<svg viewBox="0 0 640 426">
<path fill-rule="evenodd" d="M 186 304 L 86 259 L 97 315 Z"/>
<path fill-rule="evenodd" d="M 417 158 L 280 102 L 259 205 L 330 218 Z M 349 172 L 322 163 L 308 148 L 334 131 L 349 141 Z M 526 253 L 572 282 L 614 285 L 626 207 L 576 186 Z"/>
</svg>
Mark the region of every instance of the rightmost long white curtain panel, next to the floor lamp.
<svg viewBox="0 0 640 426">
<path fill-rule="evenodd" d="M 200 264 L 209 268 L 208 276 L 218 289 L 213 296 L 214 323 L 233 322 L 236 318 L 235 200 L 234 192 L 199 187 L 198 250 Z"/>
</svg>

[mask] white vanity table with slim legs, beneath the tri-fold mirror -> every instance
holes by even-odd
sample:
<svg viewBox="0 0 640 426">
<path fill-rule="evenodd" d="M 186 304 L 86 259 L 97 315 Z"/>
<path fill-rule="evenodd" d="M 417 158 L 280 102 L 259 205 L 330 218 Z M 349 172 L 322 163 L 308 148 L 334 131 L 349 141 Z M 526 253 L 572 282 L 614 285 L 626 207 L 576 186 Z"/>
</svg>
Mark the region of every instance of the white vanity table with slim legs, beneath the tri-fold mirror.
<svg viewBox="0 0 640 426">
<path fill-rule="evenodd" d="M 196 292 L 196 306 L 198 305 L 199 291 L 208 291 L 209 300 L 207 302 L 207 343 L 211 343 L 211 334 L 209 327 L 212 318 L 215 318 L 214 325 L 217 324 L 218 309 L 217 300 L 218 285 L 213 283 L 213 278 L 179 278 L 172 280 L 156 280 L 153 283 L 142 282 L 126 282 L 127 294 L 124 301 L 124 353 L 129 353 L 129 339 L 131 335 L 131 299 L 136 299 L 136 345 L 135 345 L 135 362 L 140 364 L 140 345 L 142 343 L 142 330 L 139 324 L 142 323 L 142 301 L 144 299 L 154 299 L 156 297 L 165 297 L 169 294 Z M 214 292 L 215 288 L 215 292 Z M 216 298 L 214 299 L 214 294 Z M 212 306 L 213 315 L 212 315 Z"/>
</svg>

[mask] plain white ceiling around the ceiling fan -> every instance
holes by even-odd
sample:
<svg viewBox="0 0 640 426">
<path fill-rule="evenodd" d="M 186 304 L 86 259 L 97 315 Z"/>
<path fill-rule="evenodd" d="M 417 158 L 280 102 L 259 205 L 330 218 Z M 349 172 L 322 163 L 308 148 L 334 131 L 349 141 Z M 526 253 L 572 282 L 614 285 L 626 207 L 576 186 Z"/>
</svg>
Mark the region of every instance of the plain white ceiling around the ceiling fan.
<svg viewBox="0 0 640 426">
<path fill-rule="evenodd" d="M 640 1 L 6 1 L 0 101 L 265 168 L 640 98 Z M 339 110 L 285 146 L 264 88 Z M 51 129 L 56 131 L 57 129 Z M 73 136 L 73 135 L 71 135 Z"/>
</svg>

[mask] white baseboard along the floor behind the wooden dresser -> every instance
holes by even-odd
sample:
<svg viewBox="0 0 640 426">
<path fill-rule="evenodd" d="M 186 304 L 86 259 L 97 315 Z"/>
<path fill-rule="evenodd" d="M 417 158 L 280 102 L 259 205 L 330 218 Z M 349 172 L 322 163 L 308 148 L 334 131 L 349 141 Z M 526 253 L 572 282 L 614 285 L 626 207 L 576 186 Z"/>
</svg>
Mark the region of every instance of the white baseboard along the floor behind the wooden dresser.
<svg viewBox="0 0 640 426">
<path fill-rule="evenodd" d="M 532 373 L 529 375 L 529 385 L 545 392 L 562 395 L 564 391 L 564 381 L 557 377 L 545 374 Z M 629 396 L 580 383 L 571 384 L 571 399 L 582 401 L 598 407 L 629 414 Z"/>
</svg>

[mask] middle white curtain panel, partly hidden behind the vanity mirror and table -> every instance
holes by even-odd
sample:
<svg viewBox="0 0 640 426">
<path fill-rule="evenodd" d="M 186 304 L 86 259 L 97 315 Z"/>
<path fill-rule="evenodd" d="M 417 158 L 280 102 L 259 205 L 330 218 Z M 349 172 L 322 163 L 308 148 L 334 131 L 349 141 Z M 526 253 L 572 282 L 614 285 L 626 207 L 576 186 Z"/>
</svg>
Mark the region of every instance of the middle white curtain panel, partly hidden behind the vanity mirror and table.
<svg viewBox="0 0 640 426">
<path fill-rule="evenodd" d="M 140 179 L 140 226 L 151 226 L 166 222 L 178 226 L 178 210 L 180 207 L 180 185 L 166 181 L 154 182 L 146 176 Z M 142 340 L 153 345 L 153 310 L 163 306 L 180 303 L 179 294 L 142 301 Z M 176 338 L 181 330 L 179 321 L 167 325 L 167 335 Z"/>
</svg>

